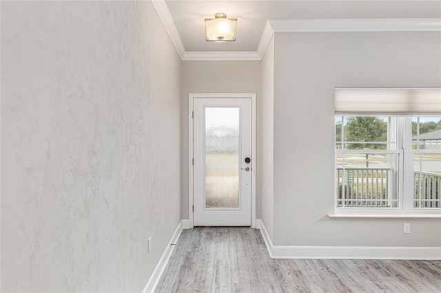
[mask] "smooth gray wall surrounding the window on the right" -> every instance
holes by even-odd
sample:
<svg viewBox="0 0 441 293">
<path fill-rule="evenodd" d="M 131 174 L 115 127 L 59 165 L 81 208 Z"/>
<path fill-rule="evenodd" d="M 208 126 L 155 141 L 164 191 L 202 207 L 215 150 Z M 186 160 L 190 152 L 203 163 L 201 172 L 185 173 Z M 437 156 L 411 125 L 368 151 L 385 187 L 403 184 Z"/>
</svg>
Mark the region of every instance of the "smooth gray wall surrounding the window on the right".
<svg viewBox="0 0 441 293">
<path fill-rule="evenodd" d="M 327 217 L 334 87 L 440 87 L 440 32 L 276 33 L 274 56 L 274 244 L 440 247 L 441 219 Z"/>
</svg>

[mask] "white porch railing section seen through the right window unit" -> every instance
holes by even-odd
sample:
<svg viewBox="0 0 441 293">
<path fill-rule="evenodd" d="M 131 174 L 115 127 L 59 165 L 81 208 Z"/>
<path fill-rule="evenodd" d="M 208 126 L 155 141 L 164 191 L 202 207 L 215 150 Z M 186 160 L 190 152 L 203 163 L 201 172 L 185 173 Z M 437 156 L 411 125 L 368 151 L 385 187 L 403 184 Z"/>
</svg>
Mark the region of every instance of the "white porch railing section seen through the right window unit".
<svg viewBox="0 0 441 293">
<path fill-rule="evenodd" d="M 441 174 L 414 171 L 414 208 L 441 208 Z"/>
</svg>

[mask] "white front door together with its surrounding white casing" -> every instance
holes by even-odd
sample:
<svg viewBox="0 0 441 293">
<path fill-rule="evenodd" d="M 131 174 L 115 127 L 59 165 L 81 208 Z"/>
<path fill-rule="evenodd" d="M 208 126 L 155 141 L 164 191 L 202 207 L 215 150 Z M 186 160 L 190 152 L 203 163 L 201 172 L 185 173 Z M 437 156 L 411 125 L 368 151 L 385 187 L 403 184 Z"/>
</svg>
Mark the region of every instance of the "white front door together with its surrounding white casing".
<svg viewBox="0 0 441 293">
<path fill-rule="evenodd" d="M 255 228 L 255 113 L 255 94 L 189 94 L 189 228 Z M 227 150 L 219 153 L 213 139 L 222 139 L 222 135 L 219 138 L 213 133 L 234 127 L 240 127 L 240 135 L 233 131 L 225 139 L 227 146 L 222 146 Z M 222 166 L 214 168 L 219 163 Z"/>
</svg>

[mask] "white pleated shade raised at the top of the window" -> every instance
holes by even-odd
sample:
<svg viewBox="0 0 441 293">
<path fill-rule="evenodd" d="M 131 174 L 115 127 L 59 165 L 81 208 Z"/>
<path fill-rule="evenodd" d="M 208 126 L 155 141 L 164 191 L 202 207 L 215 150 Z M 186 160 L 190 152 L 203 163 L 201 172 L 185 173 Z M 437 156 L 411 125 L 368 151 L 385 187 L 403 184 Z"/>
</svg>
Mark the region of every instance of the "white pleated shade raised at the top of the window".
<svg viewBox="0 0 441 293">
<path fill-rule="evenodd" d="M 336 114 L 441 114 L 441 87 L 336 87 L 335 95 Z"/>
</svg>

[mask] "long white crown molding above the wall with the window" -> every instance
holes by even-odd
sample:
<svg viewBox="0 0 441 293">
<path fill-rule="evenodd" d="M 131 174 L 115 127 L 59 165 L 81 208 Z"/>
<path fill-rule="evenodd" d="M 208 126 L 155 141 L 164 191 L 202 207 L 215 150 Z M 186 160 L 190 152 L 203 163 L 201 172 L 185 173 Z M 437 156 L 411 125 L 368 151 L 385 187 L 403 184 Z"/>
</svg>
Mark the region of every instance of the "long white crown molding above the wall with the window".
<svg viewBox="0 0 441 293">
<path fill-rule="evenodd" d="M 439 32 L 441 19 L 280 19 L 274 32 Z"/>
</svg>

